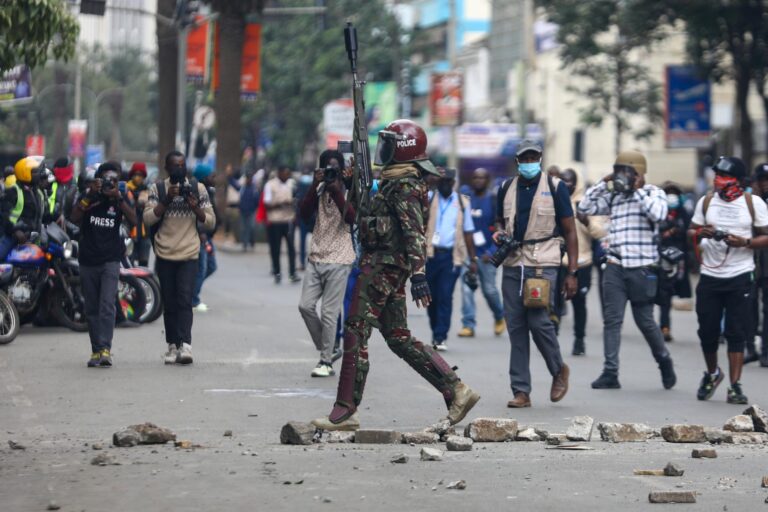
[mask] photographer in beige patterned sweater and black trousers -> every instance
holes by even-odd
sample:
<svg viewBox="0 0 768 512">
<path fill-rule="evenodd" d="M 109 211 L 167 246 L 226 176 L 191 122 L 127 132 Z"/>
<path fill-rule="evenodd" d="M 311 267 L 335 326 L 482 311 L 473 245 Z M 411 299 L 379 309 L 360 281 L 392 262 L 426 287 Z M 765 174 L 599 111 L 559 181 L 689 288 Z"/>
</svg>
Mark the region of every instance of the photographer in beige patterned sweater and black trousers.
<svg viewBox="0 0 768 512">
<path fill-rule="evenodd" d="M 163 322 L 168 351 L 165 364 L 192 363 L 192 296 L 200 256 L 197 223 L 213 229 L 208 191 L 197 180 L 187 180 L 184 155 L 165 157 L 168 179 L 152 185 L 144 208 L 144 223 L 153 233 L 157 276 L 163 295 Z"/>
</svg>

